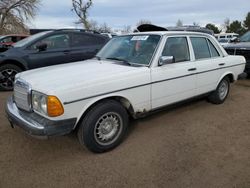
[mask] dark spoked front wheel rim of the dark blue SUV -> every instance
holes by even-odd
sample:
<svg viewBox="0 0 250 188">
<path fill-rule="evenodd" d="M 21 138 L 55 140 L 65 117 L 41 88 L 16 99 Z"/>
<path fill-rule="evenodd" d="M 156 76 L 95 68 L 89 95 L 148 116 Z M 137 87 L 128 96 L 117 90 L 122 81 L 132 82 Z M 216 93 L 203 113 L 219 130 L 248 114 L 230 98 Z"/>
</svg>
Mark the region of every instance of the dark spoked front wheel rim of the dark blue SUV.
<svg viewBox="0 0 250 188">
<path fill-rule="evenodd" d="M 0 72 L 0 85 L 6 89 L 12 89 L 15 80 L 16 70 L 5 69 Z"/>
</svg>

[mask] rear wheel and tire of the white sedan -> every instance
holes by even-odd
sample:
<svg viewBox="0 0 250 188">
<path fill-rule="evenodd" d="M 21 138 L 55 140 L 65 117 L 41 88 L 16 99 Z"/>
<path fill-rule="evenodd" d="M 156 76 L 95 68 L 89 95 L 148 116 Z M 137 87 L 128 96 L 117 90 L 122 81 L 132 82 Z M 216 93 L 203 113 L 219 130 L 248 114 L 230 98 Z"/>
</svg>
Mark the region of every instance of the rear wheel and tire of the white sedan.
<svg viewBox="0 0 250 188">
<path fill-rule="evenodd" d="M 216 90 L 209 95 L 208 100 L 213 104 L 222 104 L 226 100 L 229 91 L 230 80 L 228 77 L 224 77 L 218 84 Z"/>
</svg>

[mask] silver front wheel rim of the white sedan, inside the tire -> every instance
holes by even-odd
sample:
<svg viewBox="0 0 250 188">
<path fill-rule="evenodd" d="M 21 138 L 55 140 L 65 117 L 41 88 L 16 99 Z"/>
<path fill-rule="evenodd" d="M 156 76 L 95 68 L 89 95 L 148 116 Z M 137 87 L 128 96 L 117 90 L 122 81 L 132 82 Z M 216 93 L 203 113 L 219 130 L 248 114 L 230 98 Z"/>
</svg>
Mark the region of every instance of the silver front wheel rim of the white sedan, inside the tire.
<svg viewBox="0 0 250 188">
<path fill-rule="evenodd" d="M 122 118 L 115 112 L 102 115 L 95 125 L 95 140 L 100 145 L 109 145 L 117 140 L 122 131 Z"/>
</svg>

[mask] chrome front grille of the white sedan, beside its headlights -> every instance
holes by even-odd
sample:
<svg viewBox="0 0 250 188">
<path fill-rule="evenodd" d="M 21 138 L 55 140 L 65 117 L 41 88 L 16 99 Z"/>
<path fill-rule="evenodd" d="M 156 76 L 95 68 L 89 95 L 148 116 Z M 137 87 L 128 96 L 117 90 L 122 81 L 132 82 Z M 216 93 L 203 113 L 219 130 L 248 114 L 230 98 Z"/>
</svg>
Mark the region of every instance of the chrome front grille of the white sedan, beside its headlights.
<svg viewBox="0 0 250 188">
<path fill-rule="evenodd" d="M 30 86 L 25 81 L 22 81 L 20 79 L 15 81 L 14 85 L 14 101 L 18 108 L 30 111 L 31 110 L 31 104 L 30 104 Z"/>
</svg>

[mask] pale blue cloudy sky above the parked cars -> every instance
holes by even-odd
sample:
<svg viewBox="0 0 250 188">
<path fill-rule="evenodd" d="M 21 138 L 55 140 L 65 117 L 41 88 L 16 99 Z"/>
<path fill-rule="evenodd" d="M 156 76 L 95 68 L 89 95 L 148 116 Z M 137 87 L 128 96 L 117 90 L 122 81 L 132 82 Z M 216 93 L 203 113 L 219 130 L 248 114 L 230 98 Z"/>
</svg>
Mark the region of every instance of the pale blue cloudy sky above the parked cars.
<svg viewBox="0 0 250 188">
<path fill-rule="evenodd" d="M 28 25 L 37 29 L 79 28 L 71 9 L 71 0 L 41 0 L 37 16 Z M 184 25 L 220 26 L 226 18 L 244 20 L 248 12 L 250 0 L 93 0 L 89 19 L 113 29 L 135 28 L 142 19 L 164 27 L 175 26 L 178 19 Z"/>
</svg>

